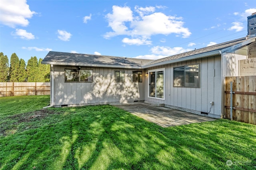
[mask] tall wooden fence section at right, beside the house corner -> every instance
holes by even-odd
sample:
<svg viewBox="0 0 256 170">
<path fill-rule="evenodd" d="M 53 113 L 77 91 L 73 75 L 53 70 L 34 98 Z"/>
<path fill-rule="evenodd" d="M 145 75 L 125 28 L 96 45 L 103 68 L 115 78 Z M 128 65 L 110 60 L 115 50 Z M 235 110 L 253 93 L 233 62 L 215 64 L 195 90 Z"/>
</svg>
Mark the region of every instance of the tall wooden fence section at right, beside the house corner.
<svg viewBox="0 0 256 170">
<path fill-rule="evenodd" d="M 233 92 L 230 94 L 230 82 Z M 230 119 L 230 95 L 233 96 L 232 119 L 256 125 L 256 76 L 226 77 L 225 115 Z"/>
</svg>

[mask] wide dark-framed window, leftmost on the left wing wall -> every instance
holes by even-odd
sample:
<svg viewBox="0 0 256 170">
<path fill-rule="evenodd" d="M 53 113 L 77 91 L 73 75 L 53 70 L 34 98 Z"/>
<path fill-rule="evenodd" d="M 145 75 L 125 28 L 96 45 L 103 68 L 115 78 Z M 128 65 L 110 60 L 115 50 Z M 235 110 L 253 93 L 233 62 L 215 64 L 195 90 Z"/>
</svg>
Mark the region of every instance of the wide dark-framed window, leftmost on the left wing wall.
<svg viewBox="0 0 256 170">
<path fill-rule="evenodd" d="M 92 70 L 65 69 L 66 82 L 92 82 Z"/>
</svg>

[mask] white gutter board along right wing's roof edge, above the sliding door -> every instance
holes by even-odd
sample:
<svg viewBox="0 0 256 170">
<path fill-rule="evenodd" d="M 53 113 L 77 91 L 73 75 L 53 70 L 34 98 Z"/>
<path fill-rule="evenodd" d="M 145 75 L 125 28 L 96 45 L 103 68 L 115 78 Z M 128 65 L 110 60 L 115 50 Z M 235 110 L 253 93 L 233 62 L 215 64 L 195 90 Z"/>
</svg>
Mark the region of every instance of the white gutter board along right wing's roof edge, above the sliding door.
<svg viewBox="0 0 256 170">
<path fill-rule="evenodd" d="M 182 58 L 179 58 L 179 59 L 164 61 L 164 62 L 161 62 L 161 63 L 150 64 L 150 65 L 142 66 L 142 68 L 150 68 L 150 67 L 160 66 L 160 65 L 164 65 L 164 64 L 178 63 L 178 62 L 181 62 L 181 61 L 200 59 L 200 58 L 210 57 L 210 56 L 213 56 L 213 55 L 220 55 L 220 54 L 221 54 L 220 50 L 211 51 L 211 52 L 208 52 L 208 53 L 191 55 L 191 56 L 188 56 L 188 57 L 182 57 Z"/>
</svg>

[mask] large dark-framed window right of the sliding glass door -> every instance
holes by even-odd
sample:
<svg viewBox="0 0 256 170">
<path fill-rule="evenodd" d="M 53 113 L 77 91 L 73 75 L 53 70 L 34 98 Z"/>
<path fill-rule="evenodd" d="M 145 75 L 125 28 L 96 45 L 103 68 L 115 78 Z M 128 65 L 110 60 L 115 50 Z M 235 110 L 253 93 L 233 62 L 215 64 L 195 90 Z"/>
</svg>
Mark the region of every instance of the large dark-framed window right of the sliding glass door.
<svg viewBox="0 0 256 170">
<path fill-rule="evenodd" d="M 200 87 L 200 65 L 192 64 L 173 69 L 173 86 Z"/>
</svg>

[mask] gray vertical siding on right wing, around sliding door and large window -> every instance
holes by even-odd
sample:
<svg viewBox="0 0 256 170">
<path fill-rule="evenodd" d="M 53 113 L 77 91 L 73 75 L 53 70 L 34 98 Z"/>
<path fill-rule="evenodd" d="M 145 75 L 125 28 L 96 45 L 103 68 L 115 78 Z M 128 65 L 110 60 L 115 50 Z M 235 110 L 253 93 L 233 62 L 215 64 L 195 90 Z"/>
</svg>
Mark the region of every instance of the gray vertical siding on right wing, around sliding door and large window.
<svg viewBox="0 0 256 170">
<path fill-rule="evenodd" d="M 189 64 L 200 64 L 200 87 L 175 87 L 173 83 L 174 67 Z M 145 101 L 162 103 L 166 107 L 201 114 L 210 111 L 210 102 L 214 101 L 209 117 L 220 118 L 221 115 L 221 55 L 165 64 L 151 69 L 165 68 L 165 100 L 148 97 L 148 79 L 145 83 Z"/>
</svg>

